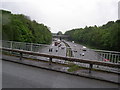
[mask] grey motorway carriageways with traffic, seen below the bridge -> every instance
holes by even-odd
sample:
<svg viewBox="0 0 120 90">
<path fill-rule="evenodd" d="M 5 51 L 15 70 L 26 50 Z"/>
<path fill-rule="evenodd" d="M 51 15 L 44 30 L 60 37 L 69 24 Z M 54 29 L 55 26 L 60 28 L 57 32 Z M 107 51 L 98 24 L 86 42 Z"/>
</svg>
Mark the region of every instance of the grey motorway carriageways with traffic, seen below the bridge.
<svg viewBox="0 0 120 90">
<path fill-rule="evenodd" d="M 90 50 L 89 48 L 86 48 L 87 51 L 83 51 L 82 45 L 72 43 L 69 41 L 65 41 L 65 42 L 70 46 L 70 48 L 72 48 L 74 57 L 81 58 L 81 59 L 88 59 L 88 60 L 100 60 L 99 55 L 96 52 Z M 65 46 L 65 44 L 63 42 L 61 42 L 61 46 Z M 49 48 L 51 48 L 51 47 L 53 48 L 53 51 L 49 52 Z M 58 49 L 58 52 L 56 52 L 57 49 Z M 74 50 L 76 50 L 77 52 L 74 52 Z M 57 56 L 66 56 L 66 48 L 61 49 L 61 47 L 54 46 L 54 42 L 52 42 L 52 44 L 49 46 L 40 48 L 38 51 L 39 51 L 39 53 L 46 53 L 46 54 L 57 55 Z M 80 55 L 82 53 L 84 53 L 84 56 Z M 44 57 L 37 57 L 37 59 L 47 60 Z M 54 59 L 54 61 L 60 61 L 60 60 Z"/>
</svg>

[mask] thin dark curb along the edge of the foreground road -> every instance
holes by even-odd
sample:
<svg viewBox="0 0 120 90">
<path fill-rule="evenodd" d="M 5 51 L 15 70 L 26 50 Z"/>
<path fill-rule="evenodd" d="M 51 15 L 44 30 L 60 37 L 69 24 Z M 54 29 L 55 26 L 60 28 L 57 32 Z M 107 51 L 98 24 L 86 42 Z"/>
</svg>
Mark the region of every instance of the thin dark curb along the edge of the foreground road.
<svg viewBox="0 0 120 90">
<path fill-rule="evenodd" d="M 14 62 L 14 63 L 22 64 L 22 65 L 32 66 L 32 67 L 36 67 L 36 68 L 56 71 L 56 72 L 60 72 L 60 73 L 70 74 L 70 75 L 74 75 L 74 76 L 80 76 L 80 77 L 84 77 L 84 78 L 95 79 L 95 80 L 105 81 L 105 82 L 114 83 L 114 84 L 120 84 L 120 82 L 115 82 L 115 81 L 107 80 L 107 79 L 100 78 L 100 77 L 95 77 L 95 76 L 90 76 L 90 75 L 85 75 L 85 74 L 77 74 L 74 72 L 67 72 L 67 71 L 57 70 L 57 69 L 49 68 L 49 67 L 41 67 L 41 66 L 27 64 L 27 63 L 23 63 L 23 62 L 19 62 L 19 61 L 12 61 L 12 60 L 7 60 L 7 59 L 2 59 L 2 60 Z"/>
</svg>

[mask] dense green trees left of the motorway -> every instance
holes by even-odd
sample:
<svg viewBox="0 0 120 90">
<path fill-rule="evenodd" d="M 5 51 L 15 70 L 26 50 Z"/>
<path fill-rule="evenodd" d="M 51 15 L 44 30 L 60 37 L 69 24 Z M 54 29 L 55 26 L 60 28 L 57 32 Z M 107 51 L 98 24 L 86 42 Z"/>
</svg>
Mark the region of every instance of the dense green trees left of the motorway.
<svg viewBox="0 0 120 90">
<path fill-rule="evenodd" d="M 47 26 L 31 21 L 28 16 L 2 11 L 2 39 L 50 44 L 52 34 Z"/>
</svg>

